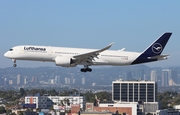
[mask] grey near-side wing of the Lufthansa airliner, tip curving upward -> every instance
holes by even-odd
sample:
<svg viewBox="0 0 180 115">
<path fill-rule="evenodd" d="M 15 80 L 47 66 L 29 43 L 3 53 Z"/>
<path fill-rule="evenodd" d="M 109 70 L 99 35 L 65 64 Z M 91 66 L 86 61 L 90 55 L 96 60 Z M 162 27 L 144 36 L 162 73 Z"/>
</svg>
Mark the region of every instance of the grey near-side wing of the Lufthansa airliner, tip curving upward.
<svg viewBox="0 0 180 115">
<path fill-rule="evenodd" d="M 104 48 L 102 48 L 100 50 L 96 50 L 96 51 L 93 51 L 93 52 L 88 52 L 88 53 L 76 55 L 76 56 L 73 56 L 73 58 L 75 58 L 77 60 L 80 60 L 80 61 L 92 62 L 92 60 L 94 60 L 94 58 L 97 58 L 99 53 L 109 49 L 112 45 L 113 45 L 113 43 L 109 44 L 108 46 L 106 46 L 106 47 L 104 47 Z"/>
</svg>

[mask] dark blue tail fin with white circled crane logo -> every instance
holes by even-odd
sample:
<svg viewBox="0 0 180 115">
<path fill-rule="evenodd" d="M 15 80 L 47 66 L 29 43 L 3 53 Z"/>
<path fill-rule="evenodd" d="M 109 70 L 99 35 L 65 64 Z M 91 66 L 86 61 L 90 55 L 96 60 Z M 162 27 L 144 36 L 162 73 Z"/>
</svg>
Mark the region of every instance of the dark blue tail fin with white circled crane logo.
<svg viewBox="0 0 180 115">
<path fill-rule="evenodd" d="M 145 63 L 151 61 L 157 61 L 157 59 L 148 59 L 148 57 L 154 57 L 161 55 L 166 43 L 171 37 L 172 33 L 164 33 L 160 38 L 158 38 L 155 42 L 153 42 L 147 49 L 145 49 L 142 54 L 132 63 Z"/>
</svg>

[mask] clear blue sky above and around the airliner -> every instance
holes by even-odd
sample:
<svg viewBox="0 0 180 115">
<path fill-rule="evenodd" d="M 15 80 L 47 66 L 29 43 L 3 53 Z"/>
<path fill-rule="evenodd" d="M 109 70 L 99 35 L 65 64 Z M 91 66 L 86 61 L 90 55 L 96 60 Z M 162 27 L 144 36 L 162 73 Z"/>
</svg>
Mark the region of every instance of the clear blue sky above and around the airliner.
<svg viewBox="0 0 180 115">
<path fill-rule="evenodd" d="M 3 54 L 23 44 L 143 51 L 164 32 L 172 36 L 165 61 L 148 66 L 177 66 L 180 59 L 180 1 L 17 0 L 0 1 L 0 68 L 13 62 Z M 18 67 L 55 66 L 18 61 Z"/>
</svg>

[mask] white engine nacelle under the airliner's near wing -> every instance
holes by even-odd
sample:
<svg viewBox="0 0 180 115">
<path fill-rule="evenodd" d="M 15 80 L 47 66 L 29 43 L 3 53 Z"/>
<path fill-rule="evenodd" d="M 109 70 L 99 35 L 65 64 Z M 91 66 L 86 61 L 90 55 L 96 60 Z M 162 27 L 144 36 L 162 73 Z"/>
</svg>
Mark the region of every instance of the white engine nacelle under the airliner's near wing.
<svg viewBox="0 0 180 115">
<path fill-rule="evenodd" d="M 62 67 L 75 67 L 76 65 L 73 64 L 72 58 L 69 57 L 56 57 L 55 58 L 55 64 L 57 66 L 62 66 Z"/>
</svg>

